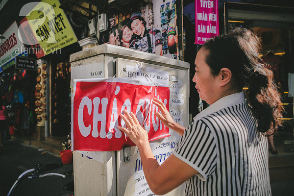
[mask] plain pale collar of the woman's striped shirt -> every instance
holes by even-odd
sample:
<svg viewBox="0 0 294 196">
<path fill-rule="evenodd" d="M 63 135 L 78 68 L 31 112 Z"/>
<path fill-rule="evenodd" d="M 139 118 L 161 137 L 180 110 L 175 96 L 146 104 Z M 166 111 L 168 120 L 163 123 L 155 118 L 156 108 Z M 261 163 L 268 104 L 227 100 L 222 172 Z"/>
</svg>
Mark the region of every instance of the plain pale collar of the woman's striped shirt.
<svg viewBox="0 0 294 196">
<path fill-rule="evenodd" d="M 226 108 L 226 107 L 229 107 L 232 105 L 236 105 L 236 104 L 242 103 L 244 101 L 245 101 L 244 92 L 235 93 L 235 94 L 220 98 L 219 100 L 214 102 L 212 105 L 207 107 L 205 110 L 203 110 L 202 112 L 197 114 L 196 117 L 194 117 L 194 121 L 197 121 L 197 120 L 201 119 L 202 117 L 205 117 L 209 114 L 217 112 L 223 108 Z"/>
</svg>

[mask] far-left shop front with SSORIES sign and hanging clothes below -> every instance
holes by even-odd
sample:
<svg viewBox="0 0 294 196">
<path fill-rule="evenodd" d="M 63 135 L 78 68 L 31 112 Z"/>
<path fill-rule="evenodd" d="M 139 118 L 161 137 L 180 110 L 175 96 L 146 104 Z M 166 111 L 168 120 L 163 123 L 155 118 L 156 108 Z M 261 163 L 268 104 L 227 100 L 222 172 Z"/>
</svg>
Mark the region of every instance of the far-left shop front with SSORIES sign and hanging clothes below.
<svg viewBox="0 0 294 196">
<path fill-rule="evenodd" d="M 8 110 L 4 139 L 15 133 L 31 134 L 36 125 L 34 93 L 36 60 L 28 58 L 14 21 L 3 33 L 0 43 L 0 97 Z"/>
</svg>

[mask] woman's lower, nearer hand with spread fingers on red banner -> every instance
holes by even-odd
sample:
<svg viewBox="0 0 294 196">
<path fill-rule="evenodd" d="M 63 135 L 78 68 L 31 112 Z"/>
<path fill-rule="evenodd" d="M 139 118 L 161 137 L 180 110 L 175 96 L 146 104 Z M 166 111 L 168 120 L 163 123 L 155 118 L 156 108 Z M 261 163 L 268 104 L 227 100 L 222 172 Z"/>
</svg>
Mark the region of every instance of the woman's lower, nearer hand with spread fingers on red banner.
<svg viewBox="0 0 294 196">
<path fill-rule="evenodd" d="M 148 133 L 141 126 L 134 113 L 128 113 L 126 110 L 123 110 L 123 113 L 125 116 L 121 114 L 121 118 L 125 122 L 127 129 L 121 126 L 118 126 L 117 128 L 126 133 L 136 146 L 148 142 Z"/>
</svg>

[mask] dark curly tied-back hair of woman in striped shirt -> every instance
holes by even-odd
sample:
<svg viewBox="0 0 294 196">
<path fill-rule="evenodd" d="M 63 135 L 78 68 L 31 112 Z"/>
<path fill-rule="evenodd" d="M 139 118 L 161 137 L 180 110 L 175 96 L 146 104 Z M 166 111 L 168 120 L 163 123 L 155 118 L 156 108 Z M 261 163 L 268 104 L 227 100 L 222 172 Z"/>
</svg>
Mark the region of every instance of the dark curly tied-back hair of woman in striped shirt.
<svg viewBox="0 0 294 196">
<path fill-rule="evenodd" d="M 260 39 L 250 30 L 238 27 L 208 40 L 203 47 L 209 51 L 206 63 L 212 74 L 228 68 L 238 89 L 248 88 L 245 98 L 258 120 L 259 131 L 265 135 L 275 133 L 284 109 L 272 71 L 259 59 Z"/>
</svg>

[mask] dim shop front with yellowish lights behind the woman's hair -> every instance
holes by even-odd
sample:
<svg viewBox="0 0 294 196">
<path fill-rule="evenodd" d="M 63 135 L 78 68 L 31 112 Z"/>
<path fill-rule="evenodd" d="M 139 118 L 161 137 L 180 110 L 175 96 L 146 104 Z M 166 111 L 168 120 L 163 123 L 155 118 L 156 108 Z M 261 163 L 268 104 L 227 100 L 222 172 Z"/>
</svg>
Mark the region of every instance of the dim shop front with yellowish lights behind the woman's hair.
<svg viewBox="0 0 294 196">
<path fill-rule="evenodd" d="M 248 3 L 224 3 L 225 31 L 242 26 L 255 32 L 262 41 L 260 58 L 274 73 L 285 112 L 278 133 L 293 137 L 294 8 Z M 290 139 L 289 138 L 289 139 Z"/>
</svg>

